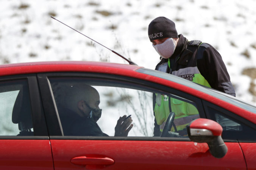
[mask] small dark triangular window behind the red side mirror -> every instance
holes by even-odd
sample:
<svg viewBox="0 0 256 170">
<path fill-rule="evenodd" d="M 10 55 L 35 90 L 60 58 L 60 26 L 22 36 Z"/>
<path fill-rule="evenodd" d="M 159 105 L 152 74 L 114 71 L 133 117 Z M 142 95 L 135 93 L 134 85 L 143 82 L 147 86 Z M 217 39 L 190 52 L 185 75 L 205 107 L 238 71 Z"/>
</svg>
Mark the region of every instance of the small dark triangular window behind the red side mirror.
<svg viewBox="0 0 256 170">
<path fill-rule="evenodd" d="M 207 115 L 210 119 L 219 123 L 222 128 L 222 138 L 238 141 L 256 141 L 256 130 L 248 123 L 243 123 L 242 118 L 234 113 L 221 108 L 207 107 Z"/>
</svg>

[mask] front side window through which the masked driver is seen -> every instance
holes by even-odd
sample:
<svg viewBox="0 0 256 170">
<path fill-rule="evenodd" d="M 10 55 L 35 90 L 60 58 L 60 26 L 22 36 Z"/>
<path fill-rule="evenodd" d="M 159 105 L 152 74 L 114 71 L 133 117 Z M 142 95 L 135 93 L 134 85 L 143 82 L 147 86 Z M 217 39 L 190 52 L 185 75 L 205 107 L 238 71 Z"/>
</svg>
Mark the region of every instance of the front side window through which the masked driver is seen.
<svg viewBox="0 0 256 170">
<path fill-rule="evenodd" d="M 186 125 L 199 118 L 194 101 L 147 86 L 97 78 L 49 78 L 49 81 L 64 136 L 114 136 L 117 120 L 123 115 L 131 115 L 133 120 L 128 136 L 153 136 L 154 110 L 160 129 L 169 113 L 175 112 L 175 126 L 168 132 L 171 137 L 186 137 Z M 99 101 L 94 99 L 97 94 L 86 90 L 91 87 L 97 90 Z M 86 111 L 83 105 L 78 108 L 78 101 L 84 103 Z M 164 109 L 159 107 L 159 101 L 166 101 Z M 102 109 L 101 114 L 94 111 L 97 106 Z M 94 114 L 100 115 L 96 123 L 91 121 Z M 186 116 L 189 118 L 183 119 Z"/>
</svg>

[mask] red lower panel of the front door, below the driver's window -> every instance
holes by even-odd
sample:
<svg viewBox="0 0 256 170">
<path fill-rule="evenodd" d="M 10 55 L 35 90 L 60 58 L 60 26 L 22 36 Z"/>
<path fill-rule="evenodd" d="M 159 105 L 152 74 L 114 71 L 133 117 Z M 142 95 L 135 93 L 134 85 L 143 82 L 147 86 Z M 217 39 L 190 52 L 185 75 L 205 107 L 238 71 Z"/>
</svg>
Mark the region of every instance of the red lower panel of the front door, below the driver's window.
<svg viewBox="0 0 256 170">
<path fill-rule="evenodd" d="M 51 140 L 55 170 L 81 169 L 72 164 L 78 156 L 105 156 L 114 164 L 104 169 L 191 169 L 246 170 L 238 143 L 226 143 L 229 150 L 214 158 L 206 143 L 178 141 Z"/>
</svg>

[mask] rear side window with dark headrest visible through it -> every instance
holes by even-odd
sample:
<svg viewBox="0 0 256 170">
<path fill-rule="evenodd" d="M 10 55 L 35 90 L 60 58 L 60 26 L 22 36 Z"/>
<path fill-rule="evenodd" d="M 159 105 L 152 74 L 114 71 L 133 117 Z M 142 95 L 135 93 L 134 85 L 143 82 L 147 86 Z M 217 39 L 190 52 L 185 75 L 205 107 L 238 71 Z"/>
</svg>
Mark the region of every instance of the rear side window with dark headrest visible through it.
<svg viewBox="0 0 256 170">
<path fill-rule="evenodd" d="M 33 135 L 27 80 L 0 82 L 0 110 L 1 136 Z"/>
</svg>

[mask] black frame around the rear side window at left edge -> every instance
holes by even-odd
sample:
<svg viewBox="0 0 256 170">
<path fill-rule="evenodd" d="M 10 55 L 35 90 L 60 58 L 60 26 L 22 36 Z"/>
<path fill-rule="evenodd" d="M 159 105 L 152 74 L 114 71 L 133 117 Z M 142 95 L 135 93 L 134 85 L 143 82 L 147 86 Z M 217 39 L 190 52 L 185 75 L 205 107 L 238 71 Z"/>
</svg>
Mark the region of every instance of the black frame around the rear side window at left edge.
<svg viewBox="0 0 256 170">
<path fill-rule="evenodd" d="M 25 80 L 28 83 L 34 136 L 0 136 L 0 139 L 49 139 L 36 74 L 0 77 L 0 82 L 14 80 Z"/>
</svg>

